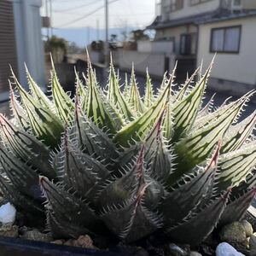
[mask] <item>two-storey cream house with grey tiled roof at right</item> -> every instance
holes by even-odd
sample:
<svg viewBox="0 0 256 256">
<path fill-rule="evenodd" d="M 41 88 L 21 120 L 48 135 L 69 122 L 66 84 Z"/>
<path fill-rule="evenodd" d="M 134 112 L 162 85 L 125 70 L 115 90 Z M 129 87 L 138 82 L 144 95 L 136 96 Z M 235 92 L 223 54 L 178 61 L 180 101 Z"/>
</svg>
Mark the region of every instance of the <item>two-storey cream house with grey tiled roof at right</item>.
<svg viewBox="0 0 256 256">
<path fill-rule="evenodd" d="M 217 52 L 212 89 L 241 95 L 256 87 L 256 1 L 162 0 L 148 28 L 154 40 L 175 45 L 177 77 L 202 60 L 208 64 Z"/>
</svg>

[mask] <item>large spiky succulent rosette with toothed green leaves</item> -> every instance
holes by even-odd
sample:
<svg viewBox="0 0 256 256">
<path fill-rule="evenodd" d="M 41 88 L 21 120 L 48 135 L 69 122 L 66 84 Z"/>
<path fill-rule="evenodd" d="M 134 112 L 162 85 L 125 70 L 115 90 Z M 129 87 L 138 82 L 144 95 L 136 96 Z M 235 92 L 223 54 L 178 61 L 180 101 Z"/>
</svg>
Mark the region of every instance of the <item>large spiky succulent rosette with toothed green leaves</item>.
<svg viewBox="0 0 256 256">
<path fill-rule="evenodd" d="M 55 237 L 105 227 L 132 242 L 160 230 L 196 245 L 240 219 L 256 192 L 256 113 L 238 120 L 253 91 L 203 104 L 211 69 L 181 86 L 166 73 L 157 92 L 147 73 L 143 97 L 134 70 L 122 88 L 113 64 L 106 88 L 90 62 L 76 73 L 74 98 L 54 66 L 49 97 L 27 70 L 29 92 L 13 74 L 13 116 L 0 116 L 3 195 Z"/>
</svg>

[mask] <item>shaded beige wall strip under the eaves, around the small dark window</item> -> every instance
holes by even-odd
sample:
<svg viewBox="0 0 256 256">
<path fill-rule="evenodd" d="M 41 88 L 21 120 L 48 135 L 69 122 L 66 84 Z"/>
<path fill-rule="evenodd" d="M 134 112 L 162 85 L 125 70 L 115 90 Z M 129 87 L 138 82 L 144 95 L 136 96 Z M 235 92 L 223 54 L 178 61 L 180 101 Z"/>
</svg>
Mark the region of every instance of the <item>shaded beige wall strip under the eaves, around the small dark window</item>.
<svg viewBox="0 0 256 256">
<path fill-rule="evenodd" d="M 155 40 L 161 38 L 174 38 L 174 49 L 176 55 L 179 55 L 180 49 L 180 36 L 184 33 L 197 32 L 197 26 L 186 25 L 186 26 L 175 26 L 170 28 L 158 29 L 155 33 Z"/>
</svg>

